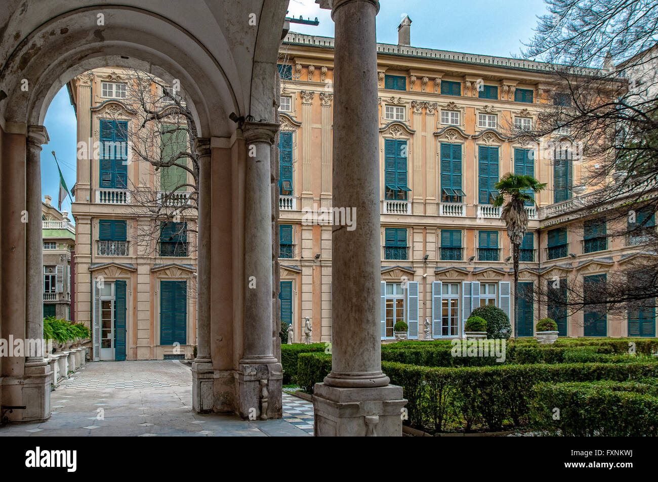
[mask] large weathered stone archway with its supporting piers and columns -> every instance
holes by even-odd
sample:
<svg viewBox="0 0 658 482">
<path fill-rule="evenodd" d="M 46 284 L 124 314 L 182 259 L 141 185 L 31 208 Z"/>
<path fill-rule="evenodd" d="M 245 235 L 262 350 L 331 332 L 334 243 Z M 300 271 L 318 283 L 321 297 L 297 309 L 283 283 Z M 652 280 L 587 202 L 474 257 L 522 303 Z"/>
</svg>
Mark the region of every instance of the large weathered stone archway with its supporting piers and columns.
<svg viewBox="0 0 658 482">
<path fill-rule="evenodd" d="M 260 414 L 267 393 L 261 415 L 280 418 L 272 287 L 277 191 L 270 172 L 270 160 L 275 167 L 278 161 L 270 153 L 279 126 L 276 57 L 287 2 L 199 3 L 197 9 L 172 0 L 80 3 L 65 9 L 12 0 L 0 13 L 0 228 L 7 233 L 0 241 L 0 337 L 42 337 L 39 153 L 55 93 L 99 66 L 177 79 L 197 120 L 201 155 L 198 279 L 206 289 L 199 290 L 194 409 Z M 250 14 L 258 28 L 249 25 Z M 232 112 L 238 124 L 229 120 Z M 255 145 L 255 157 L 247 155 L 247 143 Z M 80 171 L 78 198 L 91 189 Z M 25 213 L 29 220 L 21 222 Z M 250 277 L 257 280 L 253 288 Z M 14 420 L 49 416 L 49 376 L 43 358 L 0 359 L 1 404 L 27 407 Z"/>
</svg>

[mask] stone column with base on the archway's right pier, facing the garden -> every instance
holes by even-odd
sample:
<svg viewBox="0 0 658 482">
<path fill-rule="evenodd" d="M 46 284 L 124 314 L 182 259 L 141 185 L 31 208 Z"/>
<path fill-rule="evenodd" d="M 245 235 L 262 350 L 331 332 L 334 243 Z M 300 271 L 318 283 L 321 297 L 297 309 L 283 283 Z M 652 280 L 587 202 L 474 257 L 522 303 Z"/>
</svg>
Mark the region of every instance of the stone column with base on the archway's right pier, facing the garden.
<svg viewBox="0 0 658 482">
<path fill-rule="evenodd" d="M 238 371 L 238 412 L 281 418 L 282 370 L 272 350 L 272 196 L 270 153 L 279 124 L 245 122 L 245 301 L 243 353 Z M 261 413 L 266 380 L 267 413 Z"/>
</svg>

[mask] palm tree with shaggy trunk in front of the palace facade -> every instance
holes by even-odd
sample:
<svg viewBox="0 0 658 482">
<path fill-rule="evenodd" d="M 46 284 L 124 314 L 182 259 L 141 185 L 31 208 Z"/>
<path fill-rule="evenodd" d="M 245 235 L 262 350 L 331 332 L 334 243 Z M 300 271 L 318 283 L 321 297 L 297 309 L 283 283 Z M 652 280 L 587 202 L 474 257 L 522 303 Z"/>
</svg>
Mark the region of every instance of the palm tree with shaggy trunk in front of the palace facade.
<svg viewBox="0 0 658 482">
<path fill-rule="evenodd" d="M 528 231 L 528 212 L 526 203 L 536 204 L 534 193 L 542 191 L 545 183 L 540 183 L 532 176 L 507 173 L 495 184 L 498 195 L 493 200 L 493 206 L 503 206 L 501 220 L 507 226 L 507 235 L 512 244 L 512 259 L 514 266 L 514 324 L 517 324 L 517 308 L 519 303 L 519 258 L 523 237 Z M 507 197 L 507 201 L 505 198 Z"/>
</svg>

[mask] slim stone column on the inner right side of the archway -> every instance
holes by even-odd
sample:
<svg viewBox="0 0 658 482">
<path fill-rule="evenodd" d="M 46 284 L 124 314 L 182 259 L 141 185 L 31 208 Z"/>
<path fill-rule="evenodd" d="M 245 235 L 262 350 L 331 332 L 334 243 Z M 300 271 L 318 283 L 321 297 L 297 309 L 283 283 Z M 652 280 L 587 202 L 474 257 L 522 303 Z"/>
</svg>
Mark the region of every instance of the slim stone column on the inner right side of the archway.
<svg viewBox="0 0 658 482">
<path fill-rule="evenodd" d="M 213 210 L 210 139 L 197 138 L 199 155 L 199 233 L 197 236 L 197 356 L 192 364 L 192 406 L 195 412 L 213 410 L 211 360 L 211 218 Z"/>
</svg>

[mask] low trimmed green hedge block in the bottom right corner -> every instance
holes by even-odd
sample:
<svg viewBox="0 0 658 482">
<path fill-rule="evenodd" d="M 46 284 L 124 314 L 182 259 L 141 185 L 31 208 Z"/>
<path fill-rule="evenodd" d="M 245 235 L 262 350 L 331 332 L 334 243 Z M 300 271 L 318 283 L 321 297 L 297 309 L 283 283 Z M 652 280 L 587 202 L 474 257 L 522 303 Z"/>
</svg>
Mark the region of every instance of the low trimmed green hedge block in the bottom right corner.
<svg viewBox="0 0 658 482">
<path fill-rule="evenodd" d="M 657 394 L 655 383 L 539 383 L 533 387 L 530 426 L 546 435 L 655 437 Z"/>
</svg>

